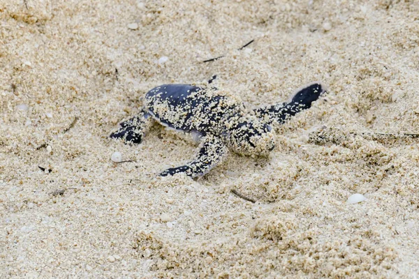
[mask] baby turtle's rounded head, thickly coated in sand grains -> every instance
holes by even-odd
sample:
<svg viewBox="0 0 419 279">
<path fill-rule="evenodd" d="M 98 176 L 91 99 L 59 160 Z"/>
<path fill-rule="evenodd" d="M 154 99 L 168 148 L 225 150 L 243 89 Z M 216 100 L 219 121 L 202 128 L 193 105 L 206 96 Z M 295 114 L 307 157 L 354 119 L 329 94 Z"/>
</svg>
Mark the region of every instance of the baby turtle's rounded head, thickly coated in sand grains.
<svg viewBox="0 0 419 279">
<path fill-rule="evenodd" d="M 274 130 L 255 116 L 228 121 L 223 135 L 230 149 L 246 156 L 267 156 L 275 147 Z"/>
</svg>

